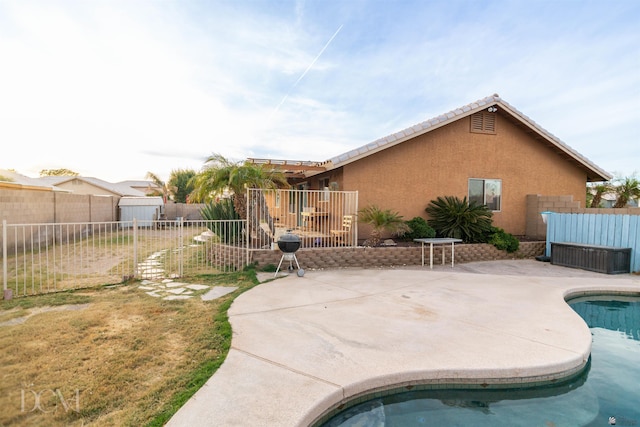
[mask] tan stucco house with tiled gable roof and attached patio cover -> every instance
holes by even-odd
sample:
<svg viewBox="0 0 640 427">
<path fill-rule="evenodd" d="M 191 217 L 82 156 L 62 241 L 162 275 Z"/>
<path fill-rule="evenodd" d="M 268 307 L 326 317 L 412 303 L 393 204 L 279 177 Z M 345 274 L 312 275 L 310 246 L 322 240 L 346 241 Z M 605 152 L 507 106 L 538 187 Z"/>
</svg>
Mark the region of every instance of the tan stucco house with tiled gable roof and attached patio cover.
<svg viewBox="0 0 640 427">
<path fill-rule="evenodd" d="M 438 196 L 467 197 L 514 235 L 525 234 L 527 195 L 570 196 L 584 207 L 586 183 L 611 179 L 497 94 L 325 162 L 249 161 L 277 166 L 299 189 L 357 190 L 360 207 L 407 220 L 427 218 Z"/>
</svg>

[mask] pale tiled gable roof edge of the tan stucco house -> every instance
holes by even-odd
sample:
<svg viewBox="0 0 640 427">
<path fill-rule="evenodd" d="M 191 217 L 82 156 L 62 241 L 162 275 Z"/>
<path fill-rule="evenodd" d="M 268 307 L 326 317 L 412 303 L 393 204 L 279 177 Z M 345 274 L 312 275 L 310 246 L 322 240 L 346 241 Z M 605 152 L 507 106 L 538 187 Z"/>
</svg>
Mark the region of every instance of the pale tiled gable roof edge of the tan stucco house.
<svg viewBox="0 0 640 427">
<path fill-rule="evenodd" d="M 521 124 L 528 131 L 538 135 L 543 142 L 546 142 L 547 145 L 558 152 L 558 154 L 565 157 L 568 161 L 583 168 L 587 172 L 587 181 L 608 181 L 612 178 L 612 176 L 608 172 L 596 166 L 589 159 L 582 156 L 580 153 L 569 147 L 556 136 L 545 130 L 542 126 L 531 120 L 526 115 L 522 114 L 516 108 L 500 98 L 498 94 L 494 94 L 480 99 L 476 102 L 472 102 L 471 104 L 467 104 L 463 107 L 449 111 L 448 113 L 441 114 L 432 119 L 425 120 L 424 122 L 418 123 L 414 126 L 408 127 L 383 138 L 379 138 L 354 150 L 340 154 L 324 162 L 323 166 L 326 167 L 326 170 L 339 168 L 379 151 L 386 150 L 387 148 L 393 147 L 394 145 L 400 144 L 417 136 L 446 126 L 450 123 L 453 123 L 464 117 L 468 117 L 479 111 L 483 111 L 492 106 L 501 108 L 502 111 L 508 113 L 513 119 L 516 120 L 516 122 Z"/>
</svg>

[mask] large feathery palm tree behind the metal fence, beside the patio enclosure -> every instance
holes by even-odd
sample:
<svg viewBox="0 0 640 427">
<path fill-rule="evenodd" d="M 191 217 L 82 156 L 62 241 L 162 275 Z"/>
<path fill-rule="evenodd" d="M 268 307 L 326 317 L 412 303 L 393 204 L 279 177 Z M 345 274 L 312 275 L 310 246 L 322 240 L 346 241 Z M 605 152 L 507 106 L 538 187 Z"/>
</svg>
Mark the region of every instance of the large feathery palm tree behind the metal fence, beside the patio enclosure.
<svg viewBox="0 0 640 427">
<path fill-rule="evenodd" d="M 205 168 L 193 179 L 194 202 L 207 202 L 229 192 L 233 206 L 242 219 L 247 218 L 247 189 L 287 188 L 287 178 L 280 171 L 266 165 L 249 162 L 232 162 L 221 154 L 213 154 L 205 162 Z"/>
</svg>

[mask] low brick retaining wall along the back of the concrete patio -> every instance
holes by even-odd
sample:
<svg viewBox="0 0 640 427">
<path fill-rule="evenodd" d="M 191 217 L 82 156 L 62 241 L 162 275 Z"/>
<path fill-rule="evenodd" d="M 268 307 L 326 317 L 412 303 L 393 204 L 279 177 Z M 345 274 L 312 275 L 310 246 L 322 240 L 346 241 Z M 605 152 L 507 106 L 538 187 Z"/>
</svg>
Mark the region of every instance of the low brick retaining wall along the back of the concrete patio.
<svg viewBox="0 0 640 427">
<path fill-rule="evenodd" d="M 520 249 L 509 254 L 489 244 L 458 244 L 455 246 L 456 262 L 492 261 L 500 259 L 534 258 L 544 254 L 545 242 L 521 242 Z M 425 247 L 425 261 L 429 262 L 429 248 Z M 442 248 L 434 247 L 434 264 L 442 263 Z M 252 262 L 258 268 L 268 264 L 278 265 L 282 252 L 279 250 L 252 251 Z M 391 267 L 420 265 L 421 247 L 377 247 L 377 248 L 306 248 L 296 252 L 300 267 L 305 269 L 341 267 Z M 451 249 L 445 250 L 445 262 L 451 262 Z M 285 261 L 286 262 L 286 261 Z M 288 262 L 287 262 L 288 266 Z"/>
</svg>

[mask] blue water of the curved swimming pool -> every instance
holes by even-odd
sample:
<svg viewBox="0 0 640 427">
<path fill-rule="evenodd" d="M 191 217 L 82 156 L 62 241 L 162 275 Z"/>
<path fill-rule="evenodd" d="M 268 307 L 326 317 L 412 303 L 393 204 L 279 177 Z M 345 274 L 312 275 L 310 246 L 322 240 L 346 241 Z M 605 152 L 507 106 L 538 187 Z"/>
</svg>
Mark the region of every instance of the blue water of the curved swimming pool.
<svg viewBox="0 0 640 427">
<path fill-rule="evenodd" d="M 640 426 L 640 298 L 569 301 L 593 336 L 584 372 L 528 389 L 405 391 L 371 399 L 323 427 Z"/>
</svg>

